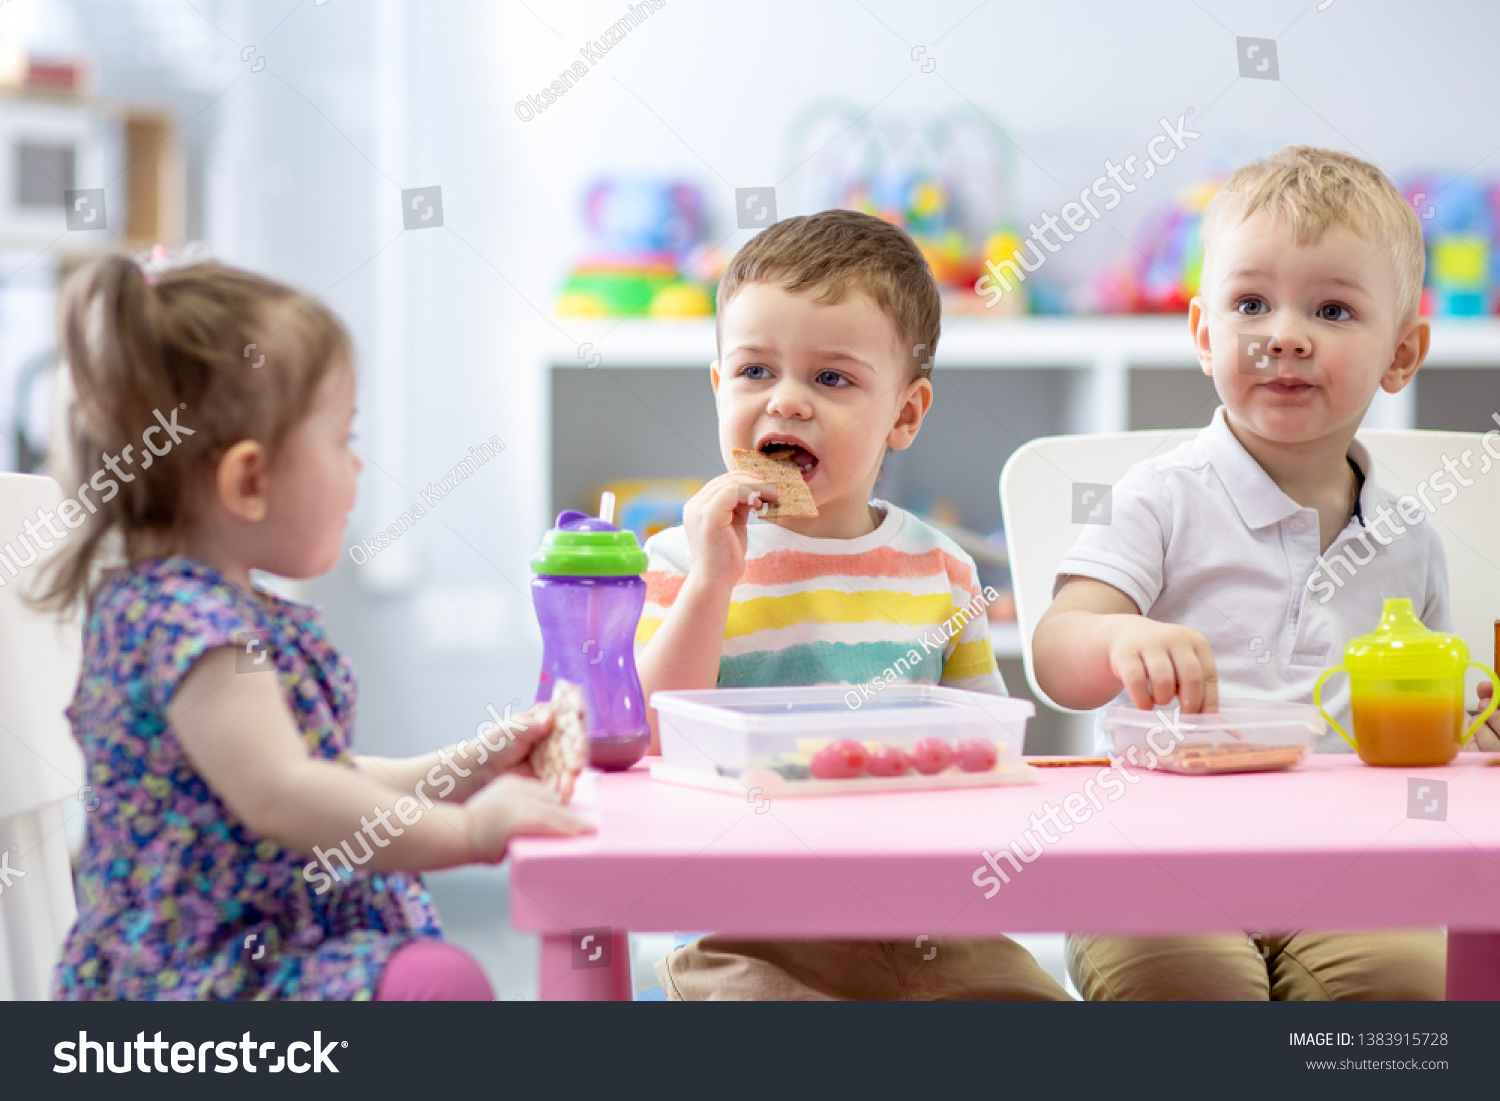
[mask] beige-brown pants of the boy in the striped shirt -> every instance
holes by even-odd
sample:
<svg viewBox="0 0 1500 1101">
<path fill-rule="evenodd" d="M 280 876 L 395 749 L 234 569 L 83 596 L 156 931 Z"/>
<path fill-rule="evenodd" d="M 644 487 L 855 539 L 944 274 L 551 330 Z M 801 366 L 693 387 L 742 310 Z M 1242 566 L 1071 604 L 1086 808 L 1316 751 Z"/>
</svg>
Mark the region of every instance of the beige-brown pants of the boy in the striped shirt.
<svg viewBox="0 0 1500 1101">
<path fill-rule="evenodd" d="M 927 957 L 932 958 L 927 958 Z M 656 966 L 668 1000 L 1068 1002 L 1014 940 L 734 940 L 705 936 Z"/>
</svg>

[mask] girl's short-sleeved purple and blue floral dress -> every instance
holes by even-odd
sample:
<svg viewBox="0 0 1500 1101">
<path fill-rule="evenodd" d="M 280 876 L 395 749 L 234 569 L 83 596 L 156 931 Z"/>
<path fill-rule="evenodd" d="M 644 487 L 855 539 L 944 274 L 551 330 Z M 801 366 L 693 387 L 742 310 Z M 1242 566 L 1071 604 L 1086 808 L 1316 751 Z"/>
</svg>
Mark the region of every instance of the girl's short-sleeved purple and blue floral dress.
<svg viewBox="0 0 1500 1101">
<path fill-rule="evenodd" d="M 243 646 L 252 632 L 264 642 Z M 246 675 L 264 651 L 308 752 L 352 766 L 354 670 L 315 609 L 188 558 L 106 580 L 68 708 L 98 807 L 56 998 L 368 999 L 398 948 L 442 934 L 420 876 L 320 874 L 318 894 L 306 854 L 250 832 L 198 776 L 166 706 L 216 646 L 242 646 Z"/>
</svg>

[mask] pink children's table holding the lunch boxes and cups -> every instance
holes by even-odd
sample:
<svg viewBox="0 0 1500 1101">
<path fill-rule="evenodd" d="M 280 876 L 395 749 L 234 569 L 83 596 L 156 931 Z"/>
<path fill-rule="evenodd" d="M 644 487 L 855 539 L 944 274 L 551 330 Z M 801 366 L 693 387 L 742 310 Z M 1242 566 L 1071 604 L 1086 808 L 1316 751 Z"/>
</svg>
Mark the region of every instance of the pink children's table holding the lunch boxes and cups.
<svg viewBox="0 0 1500 1101">
<path fill-rule="evenodd" d="M 630 998 L 626 930 L 915 942 L 1420 926 L 1450 930 L 1449 999 L 1491 998 L 1496 764 L 1466 753 L 1448 768 L 1388 770 L 1330 754 L 1292 772 L 1130 772 L 1138 783 L 1113 802 L 1092 784 L 1095 808 L 1096 768 L 1040 770 L 1028 786 L 766 801 L 657 783 L 642 762 L 600 777 L 597 836 L 512 844 L 512 921 L 543 936 L 544 999 Z M 1432 786 L 1419 810 L 1438 813 L 1446 796 L 1446 820 L 1408 816 L 1408 777 Z M 1023 831 L 1047 804 L 1071 830 L 1044 819 L 1056 842 L 1016 872 L 999 850 L 1014 840 L 1030 855 Z M 984 850 L 1010 876 L 998 891 Z"/>
</svg>

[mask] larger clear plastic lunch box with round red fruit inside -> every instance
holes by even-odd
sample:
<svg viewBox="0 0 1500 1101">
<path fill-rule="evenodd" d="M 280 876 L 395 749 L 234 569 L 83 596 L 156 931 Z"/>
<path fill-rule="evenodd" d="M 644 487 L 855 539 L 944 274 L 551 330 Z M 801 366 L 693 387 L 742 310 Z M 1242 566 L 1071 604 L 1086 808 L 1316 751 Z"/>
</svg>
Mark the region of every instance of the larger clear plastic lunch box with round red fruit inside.
<svg viewBox="0 0 1500 1101">
<path fill-rule="evenodd" d="M 819 742 L 849 740 L 910 748 L 924 738 L 992 741 L 1000 764 L 1020 762 L 1030 700 L 924 684 L 866 692 L 848 684 L 794 688 L 708 688 L 651 696 L 668 765 L 738 777 L 786 772 Z M 788 778 L 798 778 L 795 765 Z"/>
</svg>

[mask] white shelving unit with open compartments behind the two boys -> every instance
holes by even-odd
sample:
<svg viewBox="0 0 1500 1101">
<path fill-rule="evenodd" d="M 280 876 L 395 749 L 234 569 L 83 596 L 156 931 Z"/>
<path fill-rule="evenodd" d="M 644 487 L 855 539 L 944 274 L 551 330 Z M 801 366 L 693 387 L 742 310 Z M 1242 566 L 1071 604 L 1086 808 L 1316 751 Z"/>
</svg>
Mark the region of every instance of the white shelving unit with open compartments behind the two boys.
<svg viewBox="0 0 1500 1101">
<path fill-rule="evenodd" d="M 706 372 L 716 357 L 711 318 L 568 318 L 556 330 L 538 350 L 552 513 L 584 506 L 610 478 L 722 470 Z M 999 526 L 1000 466 L 1026 440 L 1186 428 L 1208 423 L 1216 405 L 1185 316 L 956 318 L 944 326 L 933 384 L 933 412 L 912 450 L 886 460 L 882 492 L 897 504 L 950 498 L 978 531 Z M 1438 320 L 1416 382 L 1377 394 L 1365 424 L 1484 430 L 1494 426 L 1491 412 L 1500 414 L 1500 320 Z M 552 513 L 536 518 L 537 526 Z M 1002 662 L 1018 663 L 1014 630 L 998 628 L 994 642 Z M 1006 681 L 1024 686 L 1018 668 Z M 1077 723 L 1054 730 L 1058 752 L 1084 748 Z"/>
</svg>

